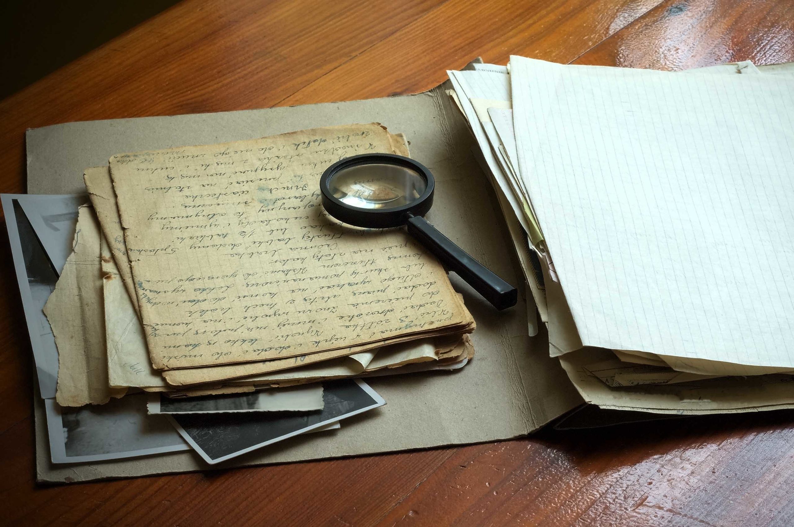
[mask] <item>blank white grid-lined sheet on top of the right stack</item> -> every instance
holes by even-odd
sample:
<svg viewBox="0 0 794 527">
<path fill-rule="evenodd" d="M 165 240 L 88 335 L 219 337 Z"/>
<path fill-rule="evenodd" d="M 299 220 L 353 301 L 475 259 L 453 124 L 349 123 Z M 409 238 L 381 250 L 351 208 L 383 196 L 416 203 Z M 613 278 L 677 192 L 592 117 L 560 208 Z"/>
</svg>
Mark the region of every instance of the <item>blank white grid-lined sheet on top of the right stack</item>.
<svg viewBox="0 0 794 527">
<path fill-rule="evenodd" d="M 522 57 L 511 75 L 583 343 L 794 367 L 794 81 Z"/>
</svg>

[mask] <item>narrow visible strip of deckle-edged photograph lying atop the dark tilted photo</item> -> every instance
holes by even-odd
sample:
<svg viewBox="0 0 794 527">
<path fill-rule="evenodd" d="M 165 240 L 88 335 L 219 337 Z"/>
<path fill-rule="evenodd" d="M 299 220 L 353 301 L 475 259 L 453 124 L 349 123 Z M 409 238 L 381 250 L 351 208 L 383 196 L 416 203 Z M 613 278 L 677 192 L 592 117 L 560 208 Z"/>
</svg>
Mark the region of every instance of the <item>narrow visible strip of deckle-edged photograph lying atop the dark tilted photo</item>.
<svg viewBox="0 0 794 527">
<path fill-rule="evenodd" d="M 172 398 L 155 394 L 148 403 L 149 414 L 225 414 L 240 412 L 319 412 L 322 384 L 270 388 L 245 394 L 206 395 Z"/>
</svg>

